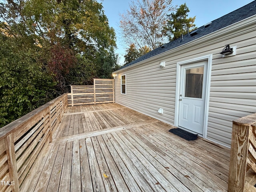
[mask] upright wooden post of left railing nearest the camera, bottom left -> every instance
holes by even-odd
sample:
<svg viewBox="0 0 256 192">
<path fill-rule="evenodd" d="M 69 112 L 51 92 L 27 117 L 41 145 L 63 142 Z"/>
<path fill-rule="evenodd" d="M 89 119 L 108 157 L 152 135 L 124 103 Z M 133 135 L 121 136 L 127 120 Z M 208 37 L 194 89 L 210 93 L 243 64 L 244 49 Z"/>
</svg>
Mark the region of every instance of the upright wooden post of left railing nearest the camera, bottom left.
<svg viewBox="0 0 256 192">
<path fill-rule="evenodd" d="M 17 164 L 16 164 L 13 134 L 10 133 L 9 135 L 7 135 L 4 138 L 4 141 L 6 146 L 6 155 L 8 160 L 10 182 L 11 182 L 10 184 L 11 184 L 12 192 L 19 192 L 20 184 L 19 184 L 18 170 L 17 170 Z M 14 182 L 13 185 L 12 185 L 12 182 Z"/>
</svg>

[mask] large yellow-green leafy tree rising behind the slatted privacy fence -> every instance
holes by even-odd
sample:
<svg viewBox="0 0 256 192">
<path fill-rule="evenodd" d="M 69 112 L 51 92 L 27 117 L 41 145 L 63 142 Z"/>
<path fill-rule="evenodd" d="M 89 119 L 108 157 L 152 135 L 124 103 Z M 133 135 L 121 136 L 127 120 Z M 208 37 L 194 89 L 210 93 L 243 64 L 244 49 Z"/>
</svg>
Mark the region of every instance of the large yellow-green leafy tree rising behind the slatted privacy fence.
<svg viewBox="0 0 256 192">
<path fill-rule="evenodd" d="M 102 53 L 111 54 L 116 47 L 114 29 L 96 0 L 5 0 L 0 3 L 0 18 L 10 36 L 41 47 L 41 60 L 54 74 L 59 94 L 67 92 L 70 84 L 86 84 L 101 76 L 102 70 L 94 71 L 99 69 L 96 66 L 88 73 L 80 67 L 99 64 Z M 86 74 L 80 80 L 74 73 L 78 68 Z"/>
</svg>

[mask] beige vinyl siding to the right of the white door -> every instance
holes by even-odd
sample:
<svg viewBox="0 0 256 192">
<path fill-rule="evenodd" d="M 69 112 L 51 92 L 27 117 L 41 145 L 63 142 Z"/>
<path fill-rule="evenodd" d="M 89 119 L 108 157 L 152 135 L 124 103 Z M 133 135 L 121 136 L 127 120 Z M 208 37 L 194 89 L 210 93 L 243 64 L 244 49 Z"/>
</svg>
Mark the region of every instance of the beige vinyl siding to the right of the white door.
<svg viewBox="0 0 256 192">
<path fill-rule="evenodd" d="M 239 40 L 235 42 L 236 40 Z M 232 120 L 256 113 L 256 37 L 230 39 L 236 56 L 213 61 L 207 138 L 230 146 Z"/>
</svg>

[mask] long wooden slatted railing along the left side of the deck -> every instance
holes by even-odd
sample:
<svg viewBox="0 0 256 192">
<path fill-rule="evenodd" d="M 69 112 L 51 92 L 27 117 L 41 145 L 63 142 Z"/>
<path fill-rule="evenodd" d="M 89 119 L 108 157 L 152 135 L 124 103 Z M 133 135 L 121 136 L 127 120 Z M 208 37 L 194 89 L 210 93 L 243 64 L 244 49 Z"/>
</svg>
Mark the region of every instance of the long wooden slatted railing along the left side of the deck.
<svg viewBox="0 0 256 192">
<path fill-rule="evenodd" d="M 52 140 L 68 101 L 67 94 L 0 129 L 0 192 L 18 192 L 36 158 Z"/>
</svg>

